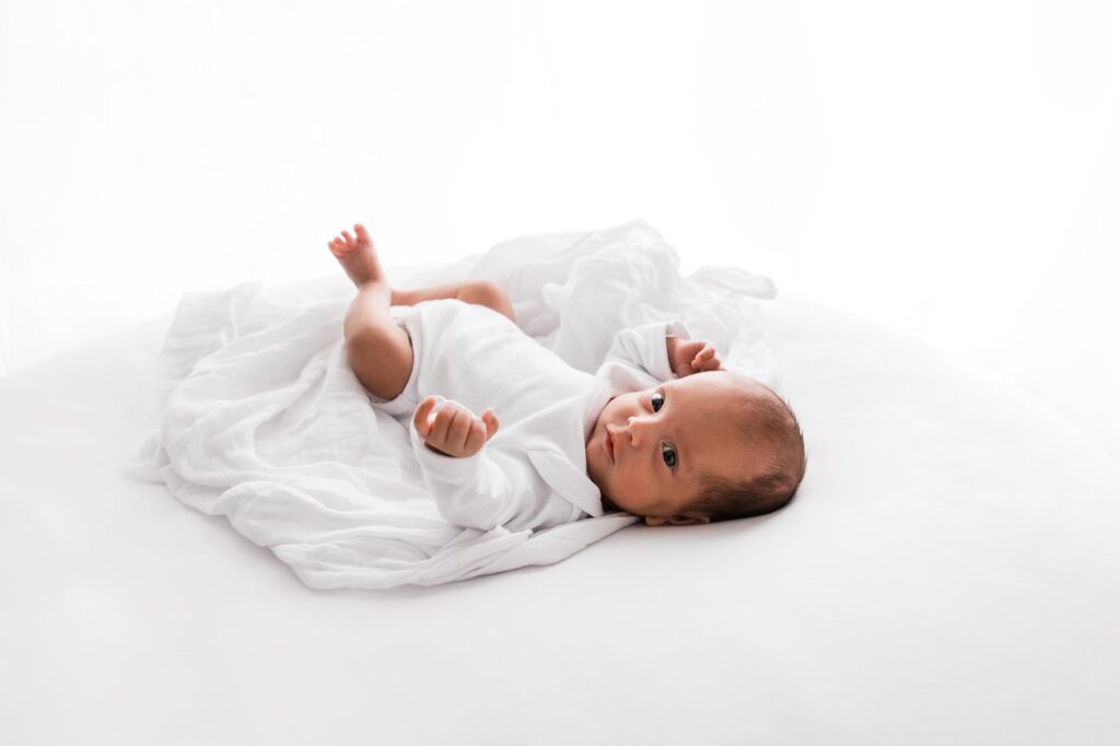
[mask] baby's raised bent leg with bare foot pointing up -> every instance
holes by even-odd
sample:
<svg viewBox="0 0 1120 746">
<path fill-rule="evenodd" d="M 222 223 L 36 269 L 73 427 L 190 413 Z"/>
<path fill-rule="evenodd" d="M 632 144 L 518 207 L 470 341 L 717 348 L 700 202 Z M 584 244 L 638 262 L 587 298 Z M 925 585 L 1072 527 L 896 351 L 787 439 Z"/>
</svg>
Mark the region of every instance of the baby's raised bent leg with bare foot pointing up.
<svg viewBox="0 0 1120 746">
<path fill-rule="evenodd" d="M 357 380 L 375 397 L 394 399 L 412 373 L 412 342 L 389 315 L 393 290 L 373 250 L 370 234 L 358 224 L 357 237 L 343 231 L 328 245 L 357 286 L 343 321 L 346 358 Z"/>
</svg>

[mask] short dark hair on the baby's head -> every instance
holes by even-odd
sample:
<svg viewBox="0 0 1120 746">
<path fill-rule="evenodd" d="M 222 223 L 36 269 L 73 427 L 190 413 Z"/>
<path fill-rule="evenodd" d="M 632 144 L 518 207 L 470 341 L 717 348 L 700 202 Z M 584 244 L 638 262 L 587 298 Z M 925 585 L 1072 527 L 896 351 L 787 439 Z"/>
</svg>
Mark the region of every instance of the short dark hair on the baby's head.
<svg viewBox="0 0 1120 746">
<path fill-rule="evenodd" d="M 805 439 L 790 404 L 769 386 L 737 373 L 731 375 L 755 392 L 729 407 L 729 413 L 744 438 L 768 444 L 772 454 L 765 467 L 747 482 L 717 475 L 703 481 L 700 497 L 689 510 L 702 512 L 713 522 L 765 515 L 785 507 L 797 493 L 808 465 Z"/>
</svg>

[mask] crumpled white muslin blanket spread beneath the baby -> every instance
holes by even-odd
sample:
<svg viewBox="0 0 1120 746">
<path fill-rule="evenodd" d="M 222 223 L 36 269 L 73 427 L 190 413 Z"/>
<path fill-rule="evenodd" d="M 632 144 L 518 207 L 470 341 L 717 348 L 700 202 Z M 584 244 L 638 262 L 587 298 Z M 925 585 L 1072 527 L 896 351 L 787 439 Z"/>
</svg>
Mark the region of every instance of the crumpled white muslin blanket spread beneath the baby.
<svg viewBox="0 0 1120 746">
<path fill-rule="evenodd" d="M 519 325 L 594 372 L 614 334 L 679 318 L 728 367 L 774 383 L 752 298 L 773 283 L 706 267 L 682 278 L 676 252 L 634 222 L 592 233 L 524 236 L 390 281 L 500 282 Z M 463 529 L 424 492 L 408 433 L 374 410 L 346 363 L 342 321 L 353 285 L 244 283 L 187 293 L 159 358 L 150 430 L 127 464 L 180 501 L 289 563 L 312 588 L 436 585 L 570 557 L 636 519 L 613 514 L 545 531 Z"/>
</svg>

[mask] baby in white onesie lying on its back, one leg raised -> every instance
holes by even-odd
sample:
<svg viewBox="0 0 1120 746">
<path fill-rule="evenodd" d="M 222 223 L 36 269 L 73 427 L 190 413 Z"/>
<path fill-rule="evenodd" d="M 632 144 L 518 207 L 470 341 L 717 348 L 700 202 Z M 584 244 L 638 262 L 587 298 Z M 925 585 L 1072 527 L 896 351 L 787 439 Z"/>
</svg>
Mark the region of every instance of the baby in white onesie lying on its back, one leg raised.
<svg viewBox="0 0 1120 746">
<path fill-rule="evenodd" d="M 591 376 L 521 332 L 496 283 L 394 290 L 366 230 L 354 233 L 328 244 L 358 289 L 347 361 L 374 405 L 410 426 L 447 520 L 541 529 L 625 511 L 683 525 L 793 498 L 805 472 L 793 412 L 680 323 L 619 332 Z M 488 403 L 512 418 L 501 436 Z"/>
</svg>

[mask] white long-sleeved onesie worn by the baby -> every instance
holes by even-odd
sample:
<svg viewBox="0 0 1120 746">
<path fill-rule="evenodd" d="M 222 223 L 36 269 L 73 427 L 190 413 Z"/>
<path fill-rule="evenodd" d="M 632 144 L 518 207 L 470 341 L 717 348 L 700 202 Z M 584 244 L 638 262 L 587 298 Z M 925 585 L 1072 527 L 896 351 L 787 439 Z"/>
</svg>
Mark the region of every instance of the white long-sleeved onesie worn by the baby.
<svg viewBox="0 0 1120 746">
<path fill-rule="evenodd" d="M 599 412 L 614 395 L 674 377 L 665 336 L 689 338 L 680 321 L 623 329 L 591 375 L 485 306 L 445 299 L 391 313 L 412 339 L 412 372 L 395 399 L 370 399 L 411 433 L 440 514 L 483 530 L 548 529 L 603 515 L 585 451 Z M 475 414 L 493 408 L 497 433 L 468 458 L 432 451 L 412 427 L 417 404 L 432 394 Z"/>
</svg>

